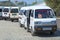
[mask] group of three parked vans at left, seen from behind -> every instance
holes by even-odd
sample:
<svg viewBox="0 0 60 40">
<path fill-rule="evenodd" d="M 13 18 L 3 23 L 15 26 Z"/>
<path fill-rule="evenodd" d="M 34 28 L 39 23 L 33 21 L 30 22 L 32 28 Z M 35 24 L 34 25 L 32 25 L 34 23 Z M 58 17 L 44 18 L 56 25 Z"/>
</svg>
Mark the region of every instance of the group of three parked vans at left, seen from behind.
<svg viewBox="0 0 60 40">
<path fill-rule="evenodd" d="M 0 19 L 18 20 L 19 7 L 0 7 Z"/>
</svg>

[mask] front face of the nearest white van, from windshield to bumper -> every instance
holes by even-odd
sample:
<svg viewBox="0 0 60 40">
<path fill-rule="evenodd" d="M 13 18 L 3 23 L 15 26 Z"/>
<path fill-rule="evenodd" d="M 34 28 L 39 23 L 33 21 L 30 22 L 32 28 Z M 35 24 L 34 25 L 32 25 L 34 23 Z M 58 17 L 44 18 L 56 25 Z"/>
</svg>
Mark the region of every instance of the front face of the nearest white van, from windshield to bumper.
<svg viewBox="0 0 60 40">
<path fill-rule="evenodd" d="M 34 26 L 32 25 L 32 22 Z M 34 28 L 34 31 L 57 30 L 55 14 L 51 9 L 36 9 L 34 13 L 34 19 L 31 19 L 30 24 Z"/>
</svg>

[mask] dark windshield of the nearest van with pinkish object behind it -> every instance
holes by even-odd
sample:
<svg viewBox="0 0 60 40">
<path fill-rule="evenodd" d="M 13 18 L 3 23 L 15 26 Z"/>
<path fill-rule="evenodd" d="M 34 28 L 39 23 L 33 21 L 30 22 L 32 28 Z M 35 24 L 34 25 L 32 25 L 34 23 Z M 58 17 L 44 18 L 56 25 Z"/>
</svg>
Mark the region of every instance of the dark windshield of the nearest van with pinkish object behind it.
<svg viewBox="0 0 60 40">
<path fill-rule="evenodd" d="M 35 10 L 35 18 L 53 18 L 54 12 L 51 9 L 38 9 Z"/>
</svg>

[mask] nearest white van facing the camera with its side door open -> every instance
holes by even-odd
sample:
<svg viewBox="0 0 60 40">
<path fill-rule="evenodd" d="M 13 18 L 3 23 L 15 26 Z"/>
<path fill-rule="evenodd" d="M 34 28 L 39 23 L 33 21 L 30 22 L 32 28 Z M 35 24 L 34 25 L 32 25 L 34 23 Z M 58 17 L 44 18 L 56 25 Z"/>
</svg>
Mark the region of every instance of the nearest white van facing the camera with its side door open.
<svg viewBox="0 0 60 40">
<path fill-rule="evenodd" d="M 25 8 L 27 10 L 24 10 Z M 27 31 L 31 31 L 32 35 L 35 35 L 36 32 L 50 32 L 50 34 L 53 34 L 57 30 L 56 17 L 50 7 L 30 6 L 25 8 L 22 8 L 26 14 L 24 27 L 27 28 Z"/>
</svg>

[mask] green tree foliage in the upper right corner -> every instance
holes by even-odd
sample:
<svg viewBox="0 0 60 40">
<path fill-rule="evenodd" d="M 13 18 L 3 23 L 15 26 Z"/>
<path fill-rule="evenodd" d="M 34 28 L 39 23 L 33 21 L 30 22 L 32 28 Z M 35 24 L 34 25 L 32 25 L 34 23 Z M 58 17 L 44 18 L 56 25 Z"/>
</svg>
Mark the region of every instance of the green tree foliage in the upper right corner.
<svg viewBox="0 0 60 40">
<path fill-rule="evenodd" d="M 45 0 L 45 2 L 56 11 L 57 15 L 60 16 L 60 0 Z"/>
</svg>

